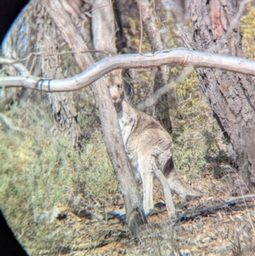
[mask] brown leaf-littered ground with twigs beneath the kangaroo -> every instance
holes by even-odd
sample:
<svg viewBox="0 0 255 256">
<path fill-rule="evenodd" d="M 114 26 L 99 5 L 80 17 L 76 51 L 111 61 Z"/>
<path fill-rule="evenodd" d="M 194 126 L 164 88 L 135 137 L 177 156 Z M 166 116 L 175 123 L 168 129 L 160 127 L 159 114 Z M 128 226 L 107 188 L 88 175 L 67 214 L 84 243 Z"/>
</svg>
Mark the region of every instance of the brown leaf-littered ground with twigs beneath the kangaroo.
<svg viewBox="0 0 255 256">
<path fill-rule="evenodd" d="M 174 196 L 178 216 L 193 212 L 186 214 L 186 220 L 174 222 L 178 216 L 169 219 L 164 207 L 156 208 L 137 238 L 129 236 L 127 225 L 120 219 L 102 218 L 104 212 L 122 208 L 119 194 L 111 198 L 78 196 L 72 208 L 54 209 L 58 217 L 50 224 L 53 237 L 59 233 L 65 237 L 59 244 L 59 255 L 255 255 L 254 199 L 226 205 L 226 180 L 204 174 L 192 185 L 203 191 L 201 199 L 178 202 Z M 163 200 L 157 182 L 155 191 L 155 200 Z M 208 211 L 215 205 L 221 207 Z M 195 214 L 198 209 L 204 210 Z M 39 254 L 51 255 L 47 250 Z"/>
</svg>

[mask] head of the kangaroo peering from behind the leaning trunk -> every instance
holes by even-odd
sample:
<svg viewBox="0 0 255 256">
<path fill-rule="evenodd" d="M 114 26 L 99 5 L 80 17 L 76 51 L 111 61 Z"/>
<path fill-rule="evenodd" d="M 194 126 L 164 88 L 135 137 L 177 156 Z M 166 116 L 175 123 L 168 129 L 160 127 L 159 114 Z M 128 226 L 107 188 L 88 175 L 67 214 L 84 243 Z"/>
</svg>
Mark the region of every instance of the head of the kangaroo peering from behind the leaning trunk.
<svg viewBox="0 0 255 256">
<path fill-rule="evenodd" d="M 105 83 L 109 89 L 116 111 L 121 111 L 124 89 L 122 86 L 122 70 L 111 71 L 105 75 Z"/>
</svg>

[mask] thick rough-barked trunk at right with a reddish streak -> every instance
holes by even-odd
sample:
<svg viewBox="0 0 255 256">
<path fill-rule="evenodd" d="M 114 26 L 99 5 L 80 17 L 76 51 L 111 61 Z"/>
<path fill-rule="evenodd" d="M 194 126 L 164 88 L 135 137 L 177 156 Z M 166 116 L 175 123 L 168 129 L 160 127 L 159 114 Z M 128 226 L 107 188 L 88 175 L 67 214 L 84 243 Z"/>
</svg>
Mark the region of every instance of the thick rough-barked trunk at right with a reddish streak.
<svg viewBox="0 0 255 256">
<path fill-rule="evenodd" d="M 245 57 L 240 1 L 190 0 L 191 31 L 183 35 L 190 48 Z M 229 27 L 231 29 L 228 31 Z M 229 143 L 229 156 L 237 168 L 232 194 L 255 191 L 255 88 L 254 78 L 228 71 L 196 69 L 202 94 L 207 98 Z"/>
</svg>

